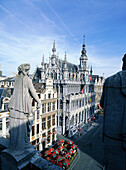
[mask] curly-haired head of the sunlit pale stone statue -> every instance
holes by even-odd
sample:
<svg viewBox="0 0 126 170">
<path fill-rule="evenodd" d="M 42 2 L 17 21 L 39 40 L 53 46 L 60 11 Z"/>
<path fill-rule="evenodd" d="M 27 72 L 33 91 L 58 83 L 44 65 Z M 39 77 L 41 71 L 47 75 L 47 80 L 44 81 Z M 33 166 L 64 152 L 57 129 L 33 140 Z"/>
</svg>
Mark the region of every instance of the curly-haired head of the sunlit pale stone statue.
<svg viewBox="0 0 126 170">
<path fill-rule="evenodd" d="M 18 67 L 18 74 L 23 74 L 23 75 L 27 75 L 29 73 L 30 70 L 30 64 L 25 63 L 25 64 L 21 64 Z"/>
</svg>

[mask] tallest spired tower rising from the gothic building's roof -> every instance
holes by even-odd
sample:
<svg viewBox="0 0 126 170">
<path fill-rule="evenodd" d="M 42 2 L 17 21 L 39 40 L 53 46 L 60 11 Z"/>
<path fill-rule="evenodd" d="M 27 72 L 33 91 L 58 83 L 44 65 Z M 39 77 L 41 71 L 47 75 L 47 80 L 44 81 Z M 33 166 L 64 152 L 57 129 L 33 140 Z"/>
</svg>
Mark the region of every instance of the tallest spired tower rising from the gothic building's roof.
<svg viewBox="0 0 126 170">
<path fill-rule="evenodd" d="M 84 70 L 87 69 L 87 61 L 88 61 L 88 57 L 87 57 L 87 54 L 86 54 L 85 47 L 86 47 L 86 45 L 85 45 L 85 36 L 84 36 L 82 51 L 81 51 L 81 57 L 80 57 L 80 68 L 82 68 Z"/>
</svg>

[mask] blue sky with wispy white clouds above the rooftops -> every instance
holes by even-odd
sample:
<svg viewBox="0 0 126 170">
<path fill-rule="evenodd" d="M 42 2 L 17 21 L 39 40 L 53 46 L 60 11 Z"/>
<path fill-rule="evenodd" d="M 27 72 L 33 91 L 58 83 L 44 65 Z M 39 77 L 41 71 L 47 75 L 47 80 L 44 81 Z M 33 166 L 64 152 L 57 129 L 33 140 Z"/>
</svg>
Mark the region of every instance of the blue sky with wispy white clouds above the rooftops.
<svg viewBox="0 0 126 170">
<path fill-rule="evenodd" d="M 55 40 L 59 58 L 79 64 L 83 35 L 88 65 L 105 77 L 126 53 L 126 0 L 0 0 L 0 64 L 5 75 L 25 62 L 31 73 Z"/>
</svg>

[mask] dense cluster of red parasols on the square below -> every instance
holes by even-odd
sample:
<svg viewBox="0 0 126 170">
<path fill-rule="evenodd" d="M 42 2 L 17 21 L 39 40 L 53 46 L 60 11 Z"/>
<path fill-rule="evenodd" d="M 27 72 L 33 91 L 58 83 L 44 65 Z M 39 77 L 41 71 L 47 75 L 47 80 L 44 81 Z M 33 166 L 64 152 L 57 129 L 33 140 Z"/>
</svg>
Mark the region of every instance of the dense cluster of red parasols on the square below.
<svg viewBox="0 0 126 170">
<path fill-rule="evenodd" d="M 78 154 L 77 145 L 73 141 L 57 140 L 53 146 L 42 151 L 40 156 L 62 169 L 69 169 Z"/>
</svg>

